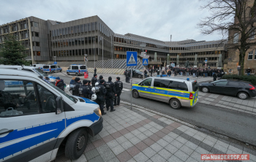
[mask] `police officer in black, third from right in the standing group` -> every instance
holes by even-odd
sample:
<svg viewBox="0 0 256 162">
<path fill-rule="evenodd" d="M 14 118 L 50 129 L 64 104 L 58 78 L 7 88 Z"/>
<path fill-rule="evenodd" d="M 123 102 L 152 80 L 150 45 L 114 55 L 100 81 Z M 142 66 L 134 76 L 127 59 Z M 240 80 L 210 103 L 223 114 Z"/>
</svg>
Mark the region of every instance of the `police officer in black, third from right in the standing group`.
<svg viewBox="0 0 256 162">
<path fill-rule="evenodd" d="M 99 92 L 97 92 L 97 104 L 99 104 L 99 109 L 102 112 L 102 115 L 107 114 L 106 112 L 104 112 L 103 108 L 104 108 L 104 98 L 105 95 L 107 93 L 107 90 L 105 88 L 105 86 L 103 85 L 105 82 L 104 80 L 100 80 L 99 85 L 97 85 L 97 87 L 99 88 Z"/>
</svg>

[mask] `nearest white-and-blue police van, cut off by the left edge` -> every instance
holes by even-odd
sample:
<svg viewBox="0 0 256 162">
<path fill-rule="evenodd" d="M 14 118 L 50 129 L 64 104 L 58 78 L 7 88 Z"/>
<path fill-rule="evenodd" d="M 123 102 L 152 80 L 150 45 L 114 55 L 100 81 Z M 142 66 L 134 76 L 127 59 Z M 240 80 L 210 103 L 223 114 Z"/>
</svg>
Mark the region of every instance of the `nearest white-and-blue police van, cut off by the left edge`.
<svg viewBox="0 0 256 162">
<path fill-rule="evenodd" d="M 0 72 L 0 161 L 78 159 L 103 128 L 99 105 L 69 96 L 31 72 Z"/>
</svg>

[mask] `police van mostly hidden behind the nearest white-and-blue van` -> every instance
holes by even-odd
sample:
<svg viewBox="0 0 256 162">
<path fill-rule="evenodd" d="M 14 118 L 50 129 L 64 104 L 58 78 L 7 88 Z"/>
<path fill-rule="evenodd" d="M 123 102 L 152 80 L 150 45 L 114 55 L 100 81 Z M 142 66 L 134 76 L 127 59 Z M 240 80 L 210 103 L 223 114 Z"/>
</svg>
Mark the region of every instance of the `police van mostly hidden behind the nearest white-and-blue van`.
<svg viewBox="0 0 256 162">
<path fill-rule="evenodd" d="M 24 70 L 28 72 L 33 72 L 35 74 L 39 74 L 42 77 L 45 77 L 45 79 L 49 80 L 50 82 L 54 83 L 56 80 L 56 77 L 50 76 L 42 71 L 42 69 L 39 69 L 34 66 L 13 66 L 13 65 L 0 65 L 0 69 L 16 69 L 16 70 Z"/>
</svg>

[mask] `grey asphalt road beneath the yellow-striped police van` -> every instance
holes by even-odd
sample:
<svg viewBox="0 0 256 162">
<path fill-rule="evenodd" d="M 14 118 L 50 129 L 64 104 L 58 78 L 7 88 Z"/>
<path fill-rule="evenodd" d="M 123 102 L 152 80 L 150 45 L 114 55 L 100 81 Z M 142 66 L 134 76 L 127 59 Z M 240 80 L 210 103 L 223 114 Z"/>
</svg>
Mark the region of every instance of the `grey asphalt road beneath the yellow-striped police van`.
<svg viewBox="0 0 256 162">
<path fill-rule="evenodd" d="M 58 74 L 53 74 L 58 75 Z M 70 82 L 70 77 L 61 77 L 64 82 Z M 124 88 L 129 84 L 125 83 Z M 123 90 L 121 100 L 131 101 L 131 93 Z M 197 103 L 195 107 L 181 107 L 181 109 L 171 109 L 169 104 L 154 101 L 151 99 L 132 98 L 132 104 L 146 107 L 157 112 L 161 112 L 180 120 L 184 120 L 192 125 L 206 128 L 207 130 L 217 132 L 241 142 L 253 144 L 256 146 L 256 117 L 244 113 L 233 112 L 227 109 L 220 109 L 214 106 Z"/>
</svg>

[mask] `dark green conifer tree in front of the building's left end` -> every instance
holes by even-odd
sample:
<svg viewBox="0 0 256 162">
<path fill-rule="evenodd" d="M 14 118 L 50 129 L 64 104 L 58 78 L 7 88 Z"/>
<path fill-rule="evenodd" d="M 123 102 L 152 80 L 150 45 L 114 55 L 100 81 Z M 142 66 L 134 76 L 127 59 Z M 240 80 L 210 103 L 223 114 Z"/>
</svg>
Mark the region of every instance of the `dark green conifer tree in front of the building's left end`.
<svg viewBox="0 0 256 162">
<path fill-rule="evenodd" d="M 0 48 L 1 63 L 5 65 L 28 64 L 24 60 L 26 58 L 24 50 L 25 47 L 16 39 L 16 36 L 8 34 Z"/>
</svg>

